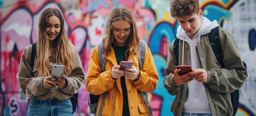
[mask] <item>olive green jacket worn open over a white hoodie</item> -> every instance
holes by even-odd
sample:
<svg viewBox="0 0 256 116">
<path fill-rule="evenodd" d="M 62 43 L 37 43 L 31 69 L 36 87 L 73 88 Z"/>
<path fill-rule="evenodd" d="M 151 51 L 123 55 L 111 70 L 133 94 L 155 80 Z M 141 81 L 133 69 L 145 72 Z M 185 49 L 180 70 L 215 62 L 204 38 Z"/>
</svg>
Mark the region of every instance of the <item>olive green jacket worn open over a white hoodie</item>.
<svg viewBox="0 0 256 116">
<path fill-rule="evenodd" d="M 247 70 L 243 66 L 240 53 L 234 38 L 225 29 L 219 29 L 220 43 L 222 45 L 222 60 L 225 64 L 221 68 L 209 43 L 208 34 L 200 36 L 200 42 L 197 43 L 197 56 L 200 68 L 208 72 L 207 82 L 204 87 L 209 100 L 209 107 L 212 116 L 231 116 L 233 113 L 231 104 L 231 92 L 243 86 L 247 78 Z M 169 94 L 176 95 L 171 105 L 171 112 L 175 116 L 181 116 L 184 106 L 187 83 L 176 85 L 173 82 L 173 72 L 177 65 L 182 64 L 182 41 L 179 46 L 179 62 L 175 58 L 173 44 L 168 49 L 166 77 L 164 78 L 164 87 Z M 187 42 L 184 43 L 184 65 L 191 64 L 190 47 Z M 186 60 L 187 59 L 187 60 Z"/>
</svg>

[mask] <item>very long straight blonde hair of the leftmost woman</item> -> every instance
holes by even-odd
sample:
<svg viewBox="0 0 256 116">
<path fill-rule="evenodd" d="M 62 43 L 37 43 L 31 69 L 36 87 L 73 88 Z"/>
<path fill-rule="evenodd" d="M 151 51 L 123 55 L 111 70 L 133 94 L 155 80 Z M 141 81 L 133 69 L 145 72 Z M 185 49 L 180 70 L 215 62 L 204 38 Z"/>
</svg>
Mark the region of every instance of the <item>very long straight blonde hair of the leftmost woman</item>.
<svg viewBox="0 0 256 116">
<path fill-rule="evenodd" d="M 55 53 L 57 58 L 56 63 L 65 65 L 64 74 L 67 75 L 67 72 L 71 74 L 74 69 L 74 51 L 70 45 L 70 42 L 65 33 L 64 20 L 60 11 L 56 8 L 45 9 L 39 18 L 38 24 L 38 41 L 37 41 L 37 59 L 36 67 L 38 70 L 38 77 L 41 76 L 50 76 L 49 72 L 49 39 L 47 38 L 47 33 L 45 29 L 47 28 L 48 18 L 51 16 L 56 16 L 60 19 L 61 22 L 61 31 L 59 35 L 54 39 L 54 45 L 52 48 L 56 49 Z"/>
</svg>

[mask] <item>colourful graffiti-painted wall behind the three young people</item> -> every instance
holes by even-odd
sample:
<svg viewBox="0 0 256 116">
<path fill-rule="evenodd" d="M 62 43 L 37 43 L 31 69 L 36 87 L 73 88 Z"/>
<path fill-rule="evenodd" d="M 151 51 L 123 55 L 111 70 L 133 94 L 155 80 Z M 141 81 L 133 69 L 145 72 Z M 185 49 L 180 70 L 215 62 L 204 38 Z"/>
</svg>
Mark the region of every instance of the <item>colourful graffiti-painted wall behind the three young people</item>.
<svg viewBox="0 0 256 116">
<path fill-rule="evenodd" d="M 177 20 L 170 16 L 171 0 L 0 0 L 0 115 L 25 116 L 28 98 L 18 83 L 22 50 L 37 41 L 38 19 L 48 7 L 61 10 L 67 36 L 79 51 L 85 74 L 92 49 L 101 42 L 105 20 L 113 7 L 125 6 L 135 14 L 141 39 L 150 47 L 159 74 L 149 94 L 154 116 L 173 116 L 175 96 L 163 86 L 167 48 L 175 38 Z M 200 0 L 204 16 L 217 20 L 233 34 L 247 62 L 248 78 L 240 89 L 237 116 L 256 115 L 256 0 Z M 86 81 L 86 80 L 85 80 Z M 85 82 L 79 89 L 75 116 L 91 116 Z"/>
</svg>

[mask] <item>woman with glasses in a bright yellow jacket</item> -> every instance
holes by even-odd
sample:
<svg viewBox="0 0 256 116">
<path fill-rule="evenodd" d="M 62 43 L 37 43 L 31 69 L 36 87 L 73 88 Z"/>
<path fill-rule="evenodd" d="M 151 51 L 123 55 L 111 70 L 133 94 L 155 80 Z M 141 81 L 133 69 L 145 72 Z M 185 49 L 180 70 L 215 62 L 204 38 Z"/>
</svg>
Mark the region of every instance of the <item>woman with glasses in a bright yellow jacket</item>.
<svg viewBox="0 0 256 116">
<path fill-rule="evenodd" d="M 139 30 L 131 11 L 125 7 L 113 9 L 105 25 L 102 40 L 103 57 L 107 59 L 104 72 L 98 57 L 98 46 L 90 56 L 86 89 L 100 95 L 97 109 L 106 100 L 101 116 L 148 116 L 144 98 L 138 91 L 152 92 L 157 87 L 158 75 L 150 49 L 146 45 L 143 68 L 139 68 Z M 121 61 L 133 61 L 130 69 L 119 70 Z"/>
</svg>

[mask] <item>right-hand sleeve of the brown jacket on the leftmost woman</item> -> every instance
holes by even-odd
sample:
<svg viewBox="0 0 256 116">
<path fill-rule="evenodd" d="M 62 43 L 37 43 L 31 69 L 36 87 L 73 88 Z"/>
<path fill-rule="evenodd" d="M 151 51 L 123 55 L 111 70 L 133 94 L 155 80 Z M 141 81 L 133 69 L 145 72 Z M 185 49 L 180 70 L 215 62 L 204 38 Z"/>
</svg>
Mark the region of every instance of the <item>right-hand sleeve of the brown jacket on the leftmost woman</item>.
<svg viewBox="0 0 256 116">
<path fill-rule="evenodd" d="M 71 72 L 70 76 L 67 76 L 67 87 L 61 89 L 64 93 L 68 94 L 76 94 L 78 93 L 78 89 L 83 85 L 83 81 L 85 78 L 85 74 L 83 71 L 82 63 L 78 51 L 74 45 L 72 45 L 74 50 L 74 67 L 75 69 Z"/>
</svg>

